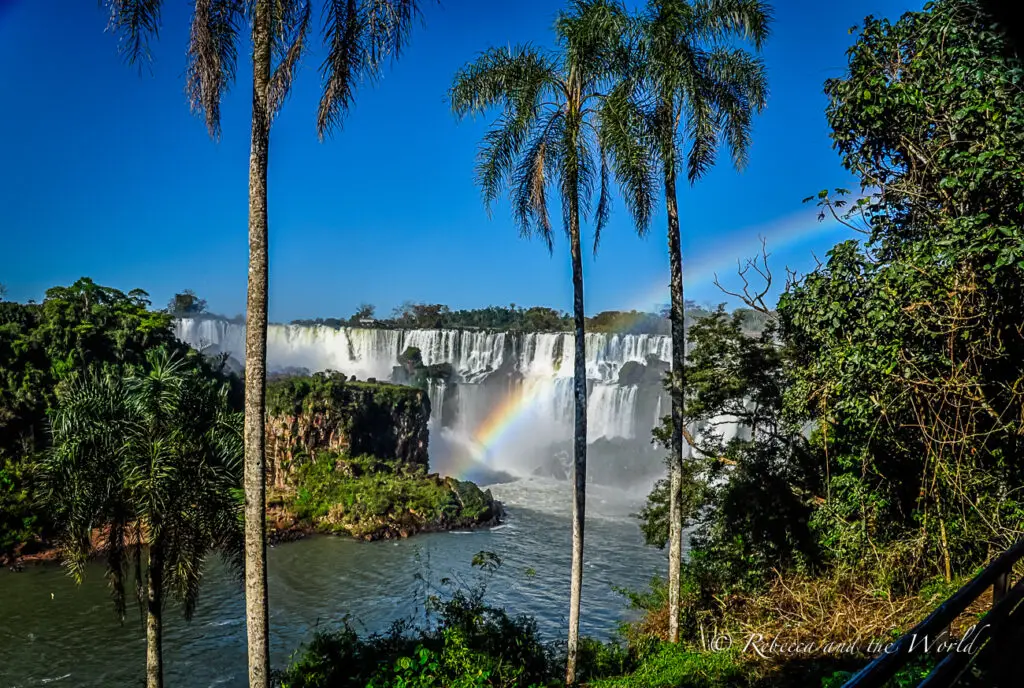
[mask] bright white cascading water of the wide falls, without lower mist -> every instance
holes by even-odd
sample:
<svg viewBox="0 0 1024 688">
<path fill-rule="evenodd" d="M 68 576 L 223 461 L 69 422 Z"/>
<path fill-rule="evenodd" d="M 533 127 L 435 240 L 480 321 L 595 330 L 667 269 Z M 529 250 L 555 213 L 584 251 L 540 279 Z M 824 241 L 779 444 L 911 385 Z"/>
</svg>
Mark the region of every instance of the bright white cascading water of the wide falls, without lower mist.
<svg viewBox="0 0 1024 688">
<path fill-rule="evenodd" d="M 227 353 L 241 361 L 245 327 L 215 318 L 182 318 L 178 339 L 208 353 Z M 520 455 L 571 437 L 572 356 L 568 333 L 512 334 L 466 330 L 385 330 L 271 325 L 267 330 L 270 372 L 334 370 L 359 379 L 388 380 L 408 347 L 420 350 L 424 364 L 449 363 L 449 389 L 432 381 L 428 389 L 432 425 L 446 426 L 476 454 L 499 455 L 498 463 L 515 465 Z M 590 333 L 586 336 L 589 387 L 588 439 L 637 439 L 646 444 L 662 403 L 655 384 L 643 418 L 636 384 L 621 385 L 629 362 L 646 364 L 653 357 L 667 365 L 672 340 L 659 335 Z M 454 396 L 453 410 L 445 404 Z M 654 413 L 651 413 L 653 410 Z M 447 413 L 456 418 L 443 417 Z M 653 418 L 651 418 L 653 416 Z M 516 424 L 516 438 L 499 443 L 505 426 Z M 504 457 L 504 460 L 502 459 Z M 489 459 L 488 459 L 489 461 Z"/>
</svg>

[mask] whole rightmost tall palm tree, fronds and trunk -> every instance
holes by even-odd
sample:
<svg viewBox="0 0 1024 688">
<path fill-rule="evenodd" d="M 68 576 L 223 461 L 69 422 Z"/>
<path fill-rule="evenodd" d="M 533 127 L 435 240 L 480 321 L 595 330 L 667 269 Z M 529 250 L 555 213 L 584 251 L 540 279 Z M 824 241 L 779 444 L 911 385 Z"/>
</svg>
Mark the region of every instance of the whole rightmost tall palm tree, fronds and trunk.
<svg viewBox="0 0 1024 688">
<path fill-rule="evenodd" d="M 730 41 L 760 50 L 771 9 L 761 0 L 649 0 L 642 18 L 640 61 L 652 104 L 650 130 L 668 214 L 672 320 L 670 442 L 669 639 L 679 641 L 682 567 L 683 361 L 686 346 L 683 257 L 676 178 L 683 161 L 692 184 L 714 164 L 720 142 L 737 169 L 746 163 L 751 123 L 768 95 L 764 63 Z M 685 150 L 688 145 L 689 149 Z"/>
</svg>

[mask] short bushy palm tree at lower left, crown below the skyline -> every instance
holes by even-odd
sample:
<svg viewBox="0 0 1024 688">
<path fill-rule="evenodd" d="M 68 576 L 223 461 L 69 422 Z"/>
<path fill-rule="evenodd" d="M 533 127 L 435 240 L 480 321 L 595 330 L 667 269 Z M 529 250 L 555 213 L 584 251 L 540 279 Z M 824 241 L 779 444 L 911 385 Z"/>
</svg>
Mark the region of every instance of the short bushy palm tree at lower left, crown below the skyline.
<svg viewBox="0 0 1024 688">
<path fill-rule="evenodd" d="M 242 418 L 230 412 L 226 389 L 184 359 L 155 351 L 148 360 L 147 374 L 70 384 L 42 475 L 78 583 L 93 528 L 106 529 L 106 576 L 122 620 L 134 570 L 145 609 L 146 686 L 160 688 L 166 596 L 190 618 L 210 552 L 232 560 L 242 553 Z"/>
</svg>

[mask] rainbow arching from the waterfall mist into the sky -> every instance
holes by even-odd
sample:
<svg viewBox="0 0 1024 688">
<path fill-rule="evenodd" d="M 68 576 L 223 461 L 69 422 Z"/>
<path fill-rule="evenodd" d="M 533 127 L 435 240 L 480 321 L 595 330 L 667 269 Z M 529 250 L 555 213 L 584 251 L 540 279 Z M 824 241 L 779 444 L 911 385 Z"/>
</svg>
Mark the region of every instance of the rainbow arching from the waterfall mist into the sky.
<svg viewBox="0 0 1024 688">
<path fill-rule="evenodd" d="M 699 284 L 712 280 L 719 270 L 729 269 L 737 257 L 740 257 L 737 256 L 736 247 L 743 241 L 751 242 L 750 255 L 753 256 L 761 249 L 760 241 L 757 245 L 753 244 L 758 236 L 764 238 L 769 250 L 777 251 L 794 248 L 813 233 L 823 231 L 825 229 L 818 222 L 818 212 L 814 209 L 794 213 L 769 224 L 739 230 L 717 250 L 686 263 L 684 278 L 687 285 Z M 642 313 L 650 312 L 659 304 L 668 303 L 670 299 L 667 282 L 667 278 L 659 280 L 655 285 L 645 289 L 632 300 L 627 310 L 640 312 L 641 315 L 637 318 L 639 319 Z M 635 322 L 636 320 L 628 320 L 623 329 L 628 330 Z M 455 465 L 449 467 L 452 474 L 456 478 L 464 478 L 473 468 L 478 468 L 480 465 L 493 468 L 493 458 L 503 442 L 517 434 L 515 431 L 522 430 L 520 426 L 528 417 L 527 412 L 534 407 L 540 390 L 540 385 L 527 386 L 497 406 L 473 431 L 470 438 L 473 456 L 459 458 Z"/>
</svg>

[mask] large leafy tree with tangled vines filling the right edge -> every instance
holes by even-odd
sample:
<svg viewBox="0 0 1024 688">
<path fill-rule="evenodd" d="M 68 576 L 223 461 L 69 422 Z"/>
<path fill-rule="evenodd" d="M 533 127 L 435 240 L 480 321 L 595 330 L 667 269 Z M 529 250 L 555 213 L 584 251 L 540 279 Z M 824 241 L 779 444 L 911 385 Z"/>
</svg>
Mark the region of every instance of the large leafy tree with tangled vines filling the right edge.
<svg viewBox="0 0 1024 688">
<path fill-rule="evenodd" d="M 825 468 L 812 525 L 892 585 L 951 578 L 1021 532 L 1024 68 L 1007 47 L 973 0 L 865 20 L 827 116 L 885 193 L 817 195 L 866 240 L 779 303 L 786 405 Z"/>
</svg>

